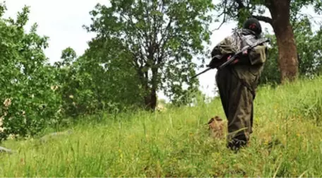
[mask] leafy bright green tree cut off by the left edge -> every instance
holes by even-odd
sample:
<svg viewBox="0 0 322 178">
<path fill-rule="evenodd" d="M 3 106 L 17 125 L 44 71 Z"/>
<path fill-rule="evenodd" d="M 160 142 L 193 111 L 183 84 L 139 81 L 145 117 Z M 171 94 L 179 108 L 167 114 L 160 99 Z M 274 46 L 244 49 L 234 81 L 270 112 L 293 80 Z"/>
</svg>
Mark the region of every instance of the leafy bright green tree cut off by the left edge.
<svg viewBox="0 0 322 178">
<path fill-rule="evenodd" d="M 35 135 L 59 121 L 60 97 L 51 88 L 56 84 L 55 69 L 43 52 L 47 37 L 37 35 L 37 24 L 24 32 L 28 13 L 25 6 L 17 20 L 0 19 L 0 101 L 7 102 L 1 106 L 0 141 L 9 134 Z"/>
</svg>

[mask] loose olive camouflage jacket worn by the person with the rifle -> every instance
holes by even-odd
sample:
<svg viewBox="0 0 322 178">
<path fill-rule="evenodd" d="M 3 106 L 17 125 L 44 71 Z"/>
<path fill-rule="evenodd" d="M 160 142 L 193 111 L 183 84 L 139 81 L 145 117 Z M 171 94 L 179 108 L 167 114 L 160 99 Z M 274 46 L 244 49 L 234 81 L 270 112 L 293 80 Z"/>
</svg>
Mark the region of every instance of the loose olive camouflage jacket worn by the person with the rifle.
<svg viewBox="0 0 322 178">
<path fill-rule="evenodd" d="M 254 32 L 250 30 L 235 30 L 232 35 L 225 37 L 218 45 L 213 48 L 212 56 L 222 55 L 227 56 L 241 50 L 246 43 L 256 42 L 260 40 Z M 249 85 L 253 90 L 256 90 L 259 77 L 263 71 L 263 66 L 266 62 L 266 45 L 258 45 L 245 57 L 239 57 L 239 62 L 226 67 L 232 69 L 232 72 L 238 76 L 241 81 Z"/>
</svg>

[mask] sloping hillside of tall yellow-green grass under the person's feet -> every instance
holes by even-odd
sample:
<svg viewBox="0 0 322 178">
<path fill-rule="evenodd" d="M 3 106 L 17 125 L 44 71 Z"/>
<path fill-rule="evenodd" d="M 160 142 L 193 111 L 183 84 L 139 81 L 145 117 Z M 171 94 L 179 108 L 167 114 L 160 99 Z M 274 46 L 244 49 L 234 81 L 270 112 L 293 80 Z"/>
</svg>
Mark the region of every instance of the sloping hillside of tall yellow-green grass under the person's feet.
<svg viewBox="0 0 322 178">
<path fill-rule="evenodd" d="M 321 177 L 322 78 L 260 88 L 249 148 L 208 137 L 220 100 L 148 114 L 85 118 L 67 136 L 6 141 L 0 177 Z M 224 117 L 225 118 L 225 117 Z"/>
</svg>

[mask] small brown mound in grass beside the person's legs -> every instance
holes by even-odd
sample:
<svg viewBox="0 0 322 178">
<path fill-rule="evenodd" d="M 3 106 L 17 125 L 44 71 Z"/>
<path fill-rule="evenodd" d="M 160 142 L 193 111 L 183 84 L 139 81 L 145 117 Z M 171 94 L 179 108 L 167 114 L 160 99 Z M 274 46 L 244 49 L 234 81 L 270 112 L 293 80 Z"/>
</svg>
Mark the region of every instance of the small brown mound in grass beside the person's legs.
<svg viewBox="0 0 322 178">
<path fill-rule="evenodd" d="M 212 138 L 224 138 L 224 122 L 218 116 L 208 121 L 209 135 Z"/>
</svg>

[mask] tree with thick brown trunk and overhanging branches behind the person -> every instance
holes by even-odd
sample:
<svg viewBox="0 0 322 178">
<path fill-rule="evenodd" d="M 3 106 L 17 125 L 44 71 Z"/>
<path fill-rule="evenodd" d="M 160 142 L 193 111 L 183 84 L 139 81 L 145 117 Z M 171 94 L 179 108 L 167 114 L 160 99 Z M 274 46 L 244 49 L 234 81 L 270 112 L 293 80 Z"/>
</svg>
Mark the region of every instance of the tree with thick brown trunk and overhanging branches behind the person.
<svg viewBox="0 0 322 178">
<path fill-rule="evenodd" d="M 223 16 L 223 23 L 231 19 L 238 20 L 240 26 L 246 18 L 252 16 L 273 27 L 279 52 L 280 80 L 283 83 L 286 80 L 294 81 L 299 72 L 297 45 L 290 20 L 297 18 L 301 8 L 308 5 L 315 6 L 318 11 L 321 2 L 314 0 L 225 0 L 217 4 L 217 10 L 222 10 L 220 16 Z M 267 9 L 271 18 L 263 16 Z"/>
</svg>

